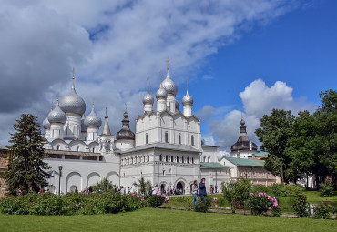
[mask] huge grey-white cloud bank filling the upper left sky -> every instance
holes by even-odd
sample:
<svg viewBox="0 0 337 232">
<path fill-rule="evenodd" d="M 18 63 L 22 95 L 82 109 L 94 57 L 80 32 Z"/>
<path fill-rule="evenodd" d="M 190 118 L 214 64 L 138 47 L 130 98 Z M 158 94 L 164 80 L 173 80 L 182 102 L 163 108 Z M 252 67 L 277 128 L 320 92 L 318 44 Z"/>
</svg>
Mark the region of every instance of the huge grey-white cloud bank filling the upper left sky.
<svg viewBox="0 0 337 232">
<path fill-rule="evenodd" d="M 108 107 L 116 133 L 125 103 L 131 121 L 141 113 L 146 76 L 153 93 L 167 57 L 179 84 L 242 30 L 292 7 L 293 1 L 280 0 L 2 1 L 0 118 L 6 124 L 0 129 L 11 131 L 23 112 L 43 120 L 51 102 L 70 88 L 76 66 L 77 93 L 87 106 L 95 99 L 99 116 Z"/>
</svg>

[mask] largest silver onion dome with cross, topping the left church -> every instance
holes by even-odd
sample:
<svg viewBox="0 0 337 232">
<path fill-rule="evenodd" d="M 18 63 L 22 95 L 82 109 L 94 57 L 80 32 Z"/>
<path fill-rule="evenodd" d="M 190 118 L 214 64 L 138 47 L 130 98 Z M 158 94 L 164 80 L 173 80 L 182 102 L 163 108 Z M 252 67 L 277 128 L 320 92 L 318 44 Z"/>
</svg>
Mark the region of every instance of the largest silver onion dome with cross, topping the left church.
<svg viewBox="0 0 337 232">
<path fill-rule="evenodd" d="M 66 113 L 73 113 L 82 116 L 86 112 L 86 103 L 82 97 L 77 95 L 74 85 L 73 76 L 73 86 L 70 92 L 64 96 L 60 101 L 61 109 Z"/>
</svg>

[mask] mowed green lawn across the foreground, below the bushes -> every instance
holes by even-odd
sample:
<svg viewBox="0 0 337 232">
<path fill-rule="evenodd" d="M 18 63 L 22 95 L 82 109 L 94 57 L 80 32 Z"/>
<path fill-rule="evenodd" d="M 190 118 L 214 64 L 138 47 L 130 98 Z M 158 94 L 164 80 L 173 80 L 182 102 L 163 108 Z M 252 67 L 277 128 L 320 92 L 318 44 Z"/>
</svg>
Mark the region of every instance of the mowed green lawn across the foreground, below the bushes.
<svg viewBox="0 0 337 232">
<path fill-rule="evenodd" d="M 159 208 L 106 215 L 0 214 L 0 231 L 336 231 L 337 220 L 205 214 Z"/>
</svg>

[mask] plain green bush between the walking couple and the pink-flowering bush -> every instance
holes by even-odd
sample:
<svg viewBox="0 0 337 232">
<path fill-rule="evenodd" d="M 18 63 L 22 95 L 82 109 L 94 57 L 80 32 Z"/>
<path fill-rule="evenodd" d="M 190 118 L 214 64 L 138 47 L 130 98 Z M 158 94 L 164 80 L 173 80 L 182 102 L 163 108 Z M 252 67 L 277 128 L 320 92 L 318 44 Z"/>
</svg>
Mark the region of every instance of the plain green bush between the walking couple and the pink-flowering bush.
<svg viewBox="0 0 337 232">
<path fill-rule="evenodd" d="M 221 189 L 223 197 L 230 203 L 232 213 L 235 213 L 235 207 L 238 204 L 243 205 L 244 201 L 250 197 L 250 179 L 238 179 L 236 182 L 222 183 Z"/>
</svg>

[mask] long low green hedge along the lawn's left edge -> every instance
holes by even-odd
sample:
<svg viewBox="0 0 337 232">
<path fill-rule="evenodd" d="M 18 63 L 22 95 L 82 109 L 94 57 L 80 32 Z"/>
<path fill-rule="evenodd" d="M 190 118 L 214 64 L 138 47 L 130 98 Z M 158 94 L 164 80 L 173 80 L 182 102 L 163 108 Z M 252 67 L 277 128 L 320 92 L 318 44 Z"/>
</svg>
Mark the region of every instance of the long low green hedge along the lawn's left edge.
<svg viewBox="0 0 337 232">
<path fill-rule="evenodd" d="M 67 193 L 56 196 L 51 193 L 29 193 L 17 197 L 5 197 L 0 211 L 5 214 L 31 215 L 92 215 L 134 211 L 143 207 L 142 198 L 134 195 Z"/>
</svg>

